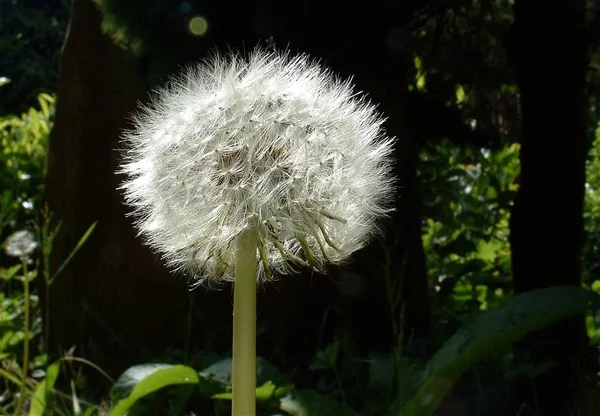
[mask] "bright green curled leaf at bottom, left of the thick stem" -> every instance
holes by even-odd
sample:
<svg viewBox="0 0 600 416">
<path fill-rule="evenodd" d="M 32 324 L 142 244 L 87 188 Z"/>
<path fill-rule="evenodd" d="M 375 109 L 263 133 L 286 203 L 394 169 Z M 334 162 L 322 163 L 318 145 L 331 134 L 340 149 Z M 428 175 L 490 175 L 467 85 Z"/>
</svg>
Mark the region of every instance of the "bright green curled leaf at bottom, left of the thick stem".
<svg viewBox="0 0 600 416">
<path fill-rule="evenodd" d="M 110 396 L 117 403 L 110 416 L 125 415 L 138 400 L 163 387 L 198 383 L 196 371 L 184 365 L 142 364 L 131 367 L 111 389 Z"/>
</svg>

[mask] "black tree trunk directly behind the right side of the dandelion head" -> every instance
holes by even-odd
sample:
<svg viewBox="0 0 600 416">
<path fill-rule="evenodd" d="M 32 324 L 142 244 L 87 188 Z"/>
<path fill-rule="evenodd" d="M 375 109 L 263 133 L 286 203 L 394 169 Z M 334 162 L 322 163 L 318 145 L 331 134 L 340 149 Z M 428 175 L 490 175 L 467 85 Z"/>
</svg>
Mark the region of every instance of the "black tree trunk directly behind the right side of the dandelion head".
<svg viewBox="0 0 600 416">
<path fill-rule="evenodd" d="M 288 45 L 323 60 L 336 73 L 352 76 L 357 90 L 368 94 L 388 117 L 387 133 L 398 138 L 396 174 L 399 177 L 396 211 L 386 224 L 383 245 L 374 242 L 356 261 L 335 275 L 329 292 L 342 311 L 354 339 L 364 350 L 389 350 L 392 319 L 405 340 L 426 336 L 429 330 L 428 285 L 421 241 L 416 192 L 416 150 L 408 117 L 406 49 L 409 31 L 404 25 L 418 2 L 375 2 L 367 8 L 327 2 L 275 2 L 267 15 L 267 33 L 277 45 Z M 307 22 L 310 30 L 307 30 Z M 382 250 L 385 246 L 386 253 Z M 387 257 L 386 257 L 387 256 Z M 400 293 L 391 306 L 384 275 Z M 327 293 L 327 292 L 326 292 Z M 393 310 L 392 310 L 393 309 Z M 335 321 L 335 320 L 334 320 Z M 339 323 L 339 321 L 338 321 Z M 314 327 L 315 323 L 307 323 Z M 329 327 L 335 326 L 331 324 Z"/>
</svg>

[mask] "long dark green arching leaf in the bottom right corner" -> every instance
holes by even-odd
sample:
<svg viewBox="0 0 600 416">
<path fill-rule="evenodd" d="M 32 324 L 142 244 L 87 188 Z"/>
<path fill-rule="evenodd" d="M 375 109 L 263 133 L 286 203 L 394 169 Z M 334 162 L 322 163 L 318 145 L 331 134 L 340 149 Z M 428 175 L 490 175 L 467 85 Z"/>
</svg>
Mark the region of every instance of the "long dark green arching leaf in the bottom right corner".
<svg viewBox="0 0 600 416">
<path fill-rule="evenodd" d="M 597 307 L 600 297 L 576 286 L 538 289 L 509 298 L 464 325 L 425 368 L 420 389 L 402 415 L 428 416 L 458 378 L 487 353 L 498 351 L 534 330 Z"/>
</svg>

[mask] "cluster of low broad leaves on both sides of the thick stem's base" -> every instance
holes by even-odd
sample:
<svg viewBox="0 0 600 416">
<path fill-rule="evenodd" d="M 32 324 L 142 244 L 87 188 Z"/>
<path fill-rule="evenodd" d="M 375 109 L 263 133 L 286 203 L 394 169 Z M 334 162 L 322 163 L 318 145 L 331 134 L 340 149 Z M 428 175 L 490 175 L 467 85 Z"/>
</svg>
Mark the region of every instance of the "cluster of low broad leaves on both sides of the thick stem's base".
<svg viewBox="0 0 600 416">
<path fill-rule="evenodd" d="M 169 389 L 184 384 L 193 385 L 194 389 Z M 315 391 L 296 390 L 286 377 L 262 358 L 257 360 L 257 386 L 256 399 L 260 414 L 284 411 L 294 416 L 357 415 L 333 398 Z M 160 402 L 166 404 L 161 400 L 164 399 L 161 394 L 170 398 L 166 407 L 156 406 Z M 111 416 L 149 415 L 154 414 L 156 409 L 160 409 L 161 414 L 178 415 L 185 411 L 186 403 L 194 399 L 229 401 L 231 359 L 220 360 L 200 372 L 183 365 L 138 365 L 119 377 L 111 390 L 111 398 L 115 403 L 110 411 Z M 219 415 L 229 414 L 226 408 L 215 407 L 214 411 Z"/>
</svg>

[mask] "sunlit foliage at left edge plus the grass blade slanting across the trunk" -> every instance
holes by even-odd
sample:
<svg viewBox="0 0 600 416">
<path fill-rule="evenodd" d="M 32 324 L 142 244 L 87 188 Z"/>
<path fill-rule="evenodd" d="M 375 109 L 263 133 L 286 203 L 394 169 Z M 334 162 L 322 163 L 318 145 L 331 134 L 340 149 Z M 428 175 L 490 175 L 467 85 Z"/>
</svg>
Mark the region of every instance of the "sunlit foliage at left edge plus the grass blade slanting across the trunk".
<svg viewBox="0 0 600 416">
<path fill-rule="evenodd" d="M 57 275 L 68 265 L 94 229 L 90 229 L 77 243 L 59 269 L 50 269 L 53 239 L 58 229 L 51 230 L 47 209 L 36 210 L 41 200 L 45 174 L 48 135 L 52 126 L 54 98 L 48 94 L 38 96 L 38 107 L 30 108 L 20 117 L 0 118 L 0 237 L 22 229 L 35 229 L 38 250 L 20 258 L 19 262 L 0 252 L 0 363 L 1 376 L 9 380 L 3 397 L 16 394 L 10 406 L 18 412 L 31 400 L 29 413 L 42 415 L 48 408 L 51 390 L 58 376 L 58 364 L 46 369 L 49 302 L 40 310 L 39 296 L 29 290 L 38 274 L 46 282 L 46 294 Z M 40 223 L 41 221 L 41 223 Z M 44 268 L 39 269 L 40 260 Z M 38 271 L 40 273 L 38 273 Z M 33 286 L 31 286 L 33 288 Z M 42 329 L 42 316 L 46 328 Z M 39 336 L 43 335 L 43 343 Z M 40 374 L 45 378 L 38 381 Z M 37 387 L 36 387 L 37 386 Z M 74 390 L 72 392 L 73 397 Z M 73 399 L 73 403 L 78 403 Z M 3 409 L 0 407 L 0 412 Z"/>
</svg>

